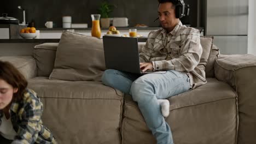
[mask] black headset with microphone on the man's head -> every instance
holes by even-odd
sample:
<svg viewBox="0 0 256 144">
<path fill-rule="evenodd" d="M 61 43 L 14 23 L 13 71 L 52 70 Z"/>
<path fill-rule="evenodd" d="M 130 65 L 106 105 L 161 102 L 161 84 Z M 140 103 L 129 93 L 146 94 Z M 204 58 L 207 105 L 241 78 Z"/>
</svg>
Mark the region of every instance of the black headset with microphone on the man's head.
<svg viewBox="0 0 256 144">
<path fill-rule="evenodd" d="M 185 14 L 185 3 L 183 0 L 173 0 L 171 1 L 175 5 L 175 16 L 177 19 L 181 19 Z M 159 3 L 160 4 L 160 3 Z M 158 20 L 155 19 L 154 21 Z"/>
</svg>

